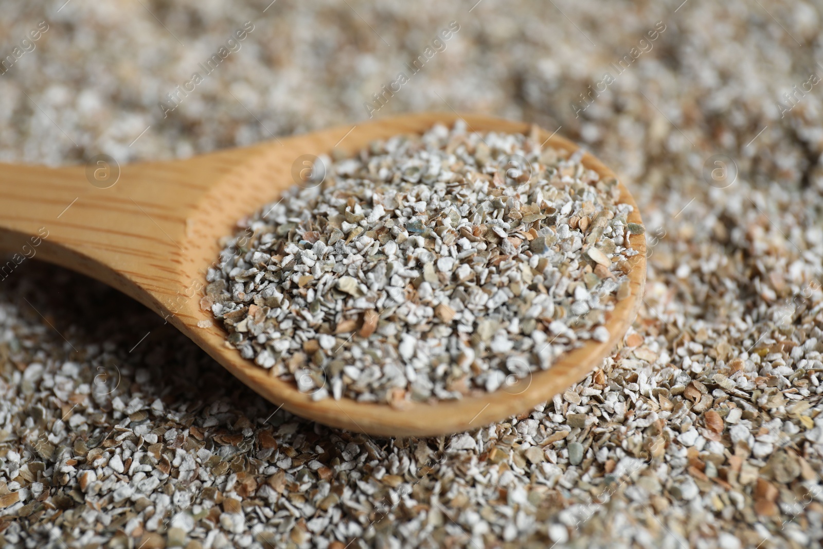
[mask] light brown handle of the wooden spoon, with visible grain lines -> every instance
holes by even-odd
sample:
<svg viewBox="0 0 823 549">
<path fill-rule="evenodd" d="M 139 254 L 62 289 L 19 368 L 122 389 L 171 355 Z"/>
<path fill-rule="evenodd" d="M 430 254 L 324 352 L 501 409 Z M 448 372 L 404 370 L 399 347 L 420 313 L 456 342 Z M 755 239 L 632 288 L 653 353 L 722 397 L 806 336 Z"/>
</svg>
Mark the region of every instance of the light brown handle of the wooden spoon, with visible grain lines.
<svg viewBox="0 0 823 549">
<path fill-rule="evenodd" d="M 37 257 L 114 286 L 162 310 L 178 291 L 187 217 L 236 156 L 49 168 L 0 164 L 0 280 Z"/>
</svg>

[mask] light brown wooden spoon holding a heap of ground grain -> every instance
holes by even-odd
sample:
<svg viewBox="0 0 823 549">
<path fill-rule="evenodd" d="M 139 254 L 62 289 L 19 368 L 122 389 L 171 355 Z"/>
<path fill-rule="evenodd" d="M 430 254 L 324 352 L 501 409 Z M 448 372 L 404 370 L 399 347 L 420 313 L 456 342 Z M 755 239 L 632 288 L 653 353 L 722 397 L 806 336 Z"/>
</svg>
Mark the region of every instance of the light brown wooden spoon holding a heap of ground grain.
<svg viewBox="0 0 823 549">
<path fill-rule="evenodd" d="M 0 249 L 16 254 L 11 263 L 0 265 L 0 278 L 13 274 L 20 258 L 35 249 L 37 258 L 94 277 L 154 309 L 264 398 L 329 426 L 373 435 L 441 435 L 528 412 L 583 379 L 625 335 L 643 295 L 644 235 L 630 236 L 632 248 L 639 251 L 629 260 L 631 293 L 607 314 L 607 342 L 587 342 L 562 356 L 549 370 L 538 370 L 494 393 L 461 400 L 409 402 L 402 409 L 350 398 L 313 402 L 295 384 L 270 376 L 268 370 L 226 347 L 226 332 L 211 310 L 200 306 L 205 272 L 221 250 L 218 240 L 234 234 L 241 217 L 277 199 L 283 189 L 294 184 L 295 159 L 329 153 L 336 147 L 351 154 L 375 139 L 422 133 L 434 123 L 452 124 L 458 118 L 478 132 L 530 131 L 527 123 L 427 113 L 332 128 L 182 161 L 58 169 L 0 164 Z M 562 137 L 550 137 L 543 130 L 540 134 L 551 147 L 578 148 Z M 583 164 L 602 178 L 616 177 L 591 155 L 583 157 Z M 620 191 L 621 202 L 635 208 L 629 221 L 641 223 L 637 205 L 623 184 Z"/>
</svg>

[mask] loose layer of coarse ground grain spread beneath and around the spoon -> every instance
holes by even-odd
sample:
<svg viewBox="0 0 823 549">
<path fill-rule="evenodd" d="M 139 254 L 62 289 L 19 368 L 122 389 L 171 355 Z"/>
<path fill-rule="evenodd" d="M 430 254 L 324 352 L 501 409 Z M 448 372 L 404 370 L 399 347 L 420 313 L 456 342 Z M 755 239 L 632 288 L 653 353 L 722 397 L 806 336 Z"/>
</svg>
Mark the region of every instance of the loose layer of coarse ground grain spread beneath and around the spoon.
<svg viewBox="0 0 823 549">
<path fill-rule="evenodd" d="M 378 115 L 562 126 L 642 181 L 644 308 L 601 368 L 528 415 L 370 439 L 272 415 L 151 314 L 26 261 L 0 282 L 8 545 L 820 545 L 823 104 L 793 88 L 820 74 L 819 2 L 144 3 L 184 46 L 139 2 L 2 3 L 2 55 L 52 23 L 0 77 L 3 160 L 168 158 L 355 124 L 456 20 Z M 244 49 L 163 119 L 156 103 L 252 16 Z M 718 154 L 731 184 L 714 161 L 704 177 Z"/>
</svg>

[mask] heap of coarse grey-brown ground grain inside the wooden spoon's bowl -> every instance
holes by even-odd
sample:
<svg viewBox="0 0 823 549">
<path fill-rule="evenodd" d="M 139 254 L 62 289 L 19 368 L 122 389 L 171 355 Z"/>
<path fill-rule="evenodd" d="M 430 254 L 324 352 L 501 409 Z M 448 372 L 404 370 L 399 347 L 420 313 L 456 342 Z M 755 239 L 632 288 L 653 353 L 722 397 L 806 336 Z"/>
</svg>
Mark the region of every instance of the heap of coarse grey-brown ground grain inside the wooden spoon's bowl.
<svg viewBox="0 0 823 549">
<path fill-rule="evenodd" d="M 318 400 L 491 393 L 607 342 L 633 207 L 543 141 L 458 119 L 317 159 L 322 178 L 222 240 L 206 305 L 241 356 Z"/>
</svg>

